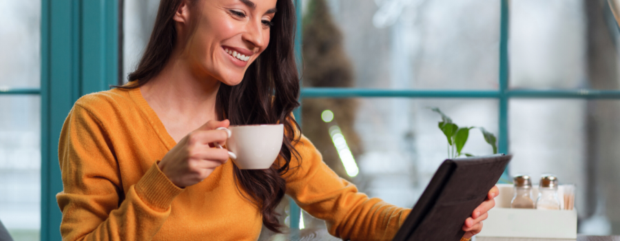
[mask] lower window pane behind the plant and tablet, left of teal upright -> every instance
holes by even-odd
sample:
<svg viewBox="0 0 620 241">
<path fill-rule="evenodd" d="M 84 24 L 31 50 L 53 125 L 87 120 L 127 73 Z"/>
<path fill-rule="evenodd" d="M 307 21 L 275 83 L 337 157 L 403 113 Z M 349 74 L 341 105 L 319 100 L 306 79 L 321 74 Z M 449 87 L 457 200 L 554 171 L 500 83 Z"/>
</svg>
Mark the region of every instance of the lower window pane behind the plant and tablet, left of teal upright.
<svg viewBox="0 0 620 241">
<path fill-rule="evenodd" d="M 484 127 L 497 134 L 497 101 L 472 99 L 353 98 L 304 99 L 302 132 L 339 176 L 351 180 L 360 191 L 399 207 L 413 207 L 442 161 L 448 158 L 448 142 L 437 127 L 441 116 L 428 107 L 439 107 L 461 127 Z M 333 113 L 323 114 L 326 109 Z M 326 112 L 329 113 L 329 112 Z M 341 140 L 353 153 L 359 172 L 351 177 L 341 158 Z M 332 132 L 330 132 L 330 129 Z M 482 133 L 472 129 L 463 153 L 493 154 Z M 340 149 L 340 151 L 339 151 Z M 320 225 L 304 215 L 305 227 Z M 324 224 L 322 224 L 324 225 Z"/>
</svg>

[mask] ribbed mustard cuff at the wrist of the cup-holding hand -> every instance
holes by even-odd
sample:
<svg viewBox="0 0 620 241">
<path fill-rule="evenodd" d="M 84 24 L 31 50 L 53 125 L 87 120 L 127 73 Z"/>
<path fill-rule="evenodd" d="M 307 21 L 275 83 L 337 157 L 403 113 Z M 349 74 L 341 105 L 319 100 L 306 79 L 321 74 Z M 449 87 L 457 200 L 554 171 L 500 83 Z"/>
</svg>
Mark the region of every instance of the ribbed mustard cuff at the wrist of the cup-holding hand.
<svg viewBox="0 0 620 241">
<path fill-rule="evenodd" d="M 184 189 L 176 187 L 154 163 L 135 186 L 136 193 L 149 207 L 167 210 Z"/>
</svg>

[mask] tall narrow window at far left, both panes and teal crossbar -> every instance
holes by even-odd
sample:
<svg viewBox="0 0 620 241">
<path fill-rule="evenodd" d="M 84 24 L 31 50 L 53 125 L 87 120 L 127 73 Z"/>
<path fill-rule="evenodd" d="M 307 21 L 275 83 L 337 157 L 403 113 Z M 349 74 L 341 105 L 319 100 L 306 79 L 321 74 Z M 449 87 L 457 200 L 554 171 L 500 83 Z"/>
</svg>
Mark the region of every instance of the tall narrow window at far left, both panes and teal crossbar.
<svg viewBox="0 0 620 241">
<path fill-rule="evenodd" d="M 41 2 L 0 9 L 0 220 L 16 240 L 39 240 Z"/>
</svg>

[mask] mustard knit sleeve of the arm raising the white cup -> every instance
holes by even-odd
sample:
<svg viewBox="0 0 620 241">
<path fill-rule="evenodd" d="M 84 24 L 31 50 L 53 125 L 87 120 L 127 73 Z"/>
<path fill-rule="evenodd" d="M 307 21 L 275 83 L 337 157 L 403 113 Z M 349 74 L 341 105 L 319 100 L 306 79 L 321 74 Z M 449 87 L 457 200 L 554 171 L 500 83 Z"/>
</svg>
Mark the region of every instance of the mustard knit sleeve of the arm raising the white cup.
<svg viewBox="0 0 620 241">
<path fill-rule="evenodd" d="M 63 125 L 59 161 L 63 240 L 151 240 L 183 191 L 155 163 L 125 193 L 110 135 L 79 103 Z"/>
</svg>

